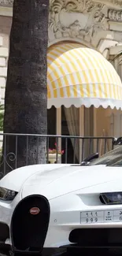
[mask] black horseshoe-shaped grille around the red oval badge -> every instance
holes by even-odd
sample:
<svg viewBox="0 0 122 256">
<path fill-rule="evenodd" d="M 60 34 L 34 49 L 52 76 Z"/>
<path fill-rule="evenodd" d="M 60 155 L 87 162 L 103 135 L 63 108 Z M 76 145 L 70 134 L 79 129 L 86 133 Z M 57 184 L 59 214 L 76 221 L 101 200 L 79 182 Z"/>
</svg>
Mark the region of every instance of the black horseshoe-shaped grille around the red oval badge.
<svg viewBox="0 0 122 256">
<path fill-rule="evenodd" d="M 31 214 L 33 207 L 38 214 Z M 19 202 L 13 212 L 11 236 L 13 251 L 41 252 L 50 220 L 50 205 L 41 195 L 31 195 Z"/>
</svg>

